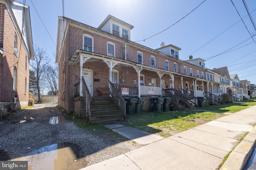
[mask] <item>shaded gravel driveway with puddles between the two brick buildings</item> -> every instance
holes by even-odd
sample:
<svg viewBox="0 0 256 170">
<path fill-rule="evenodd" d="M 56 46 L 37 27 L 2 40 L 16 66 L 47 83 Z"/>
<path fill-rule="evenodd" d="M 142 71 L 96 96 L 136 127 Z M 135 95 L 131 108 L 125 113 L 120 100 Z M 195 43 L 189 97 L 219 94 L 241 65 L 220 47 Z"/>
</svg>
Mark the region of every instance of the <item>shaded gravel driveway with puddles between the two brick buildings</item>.
<svg viewBox="0 0 256 170">
<path fill-rule="evenodd" d="M 59 117 L 62 122 L 50 124 L 51 117 Z M 82 158 L 70 158 L 66 161 L 70 166 L 66 168 L 77 170 L 142 147 L 110 132 L 102 135 L 77 127 L 64 119 L 56 104 L 35 104 L 14 114 L 8 121 L 0 120 L 0 160 L 28 160 L 28 165 L 31 163 L 32 166 L 31 159 L 36 156 L 36 150 L 58 143 L 74 143 L 80 147 Z M 36 166 L 32 168 L 36 169 Z"/>
</svg>

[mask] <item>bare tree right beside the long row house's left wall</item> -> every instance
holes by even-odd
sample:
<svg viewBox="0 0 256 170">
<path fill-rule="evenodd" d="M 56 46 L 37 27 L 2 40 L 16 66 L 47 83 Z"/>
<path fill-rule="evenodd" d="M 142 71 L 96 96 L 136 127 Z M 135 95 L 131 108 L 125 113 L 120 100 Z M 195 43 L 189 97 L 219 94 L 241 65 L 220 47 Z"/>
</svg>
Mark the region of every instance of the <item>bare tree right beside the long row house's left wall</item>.
<svg viewBox="0 0 256 170">
<path fill-rule="evenodd" d="M 46 80 L 45 84 L 49 92 L 54 96 L 58 95 L 58 64 L 51 64 L 47 66 L 44 79 Z"/>
</svg>

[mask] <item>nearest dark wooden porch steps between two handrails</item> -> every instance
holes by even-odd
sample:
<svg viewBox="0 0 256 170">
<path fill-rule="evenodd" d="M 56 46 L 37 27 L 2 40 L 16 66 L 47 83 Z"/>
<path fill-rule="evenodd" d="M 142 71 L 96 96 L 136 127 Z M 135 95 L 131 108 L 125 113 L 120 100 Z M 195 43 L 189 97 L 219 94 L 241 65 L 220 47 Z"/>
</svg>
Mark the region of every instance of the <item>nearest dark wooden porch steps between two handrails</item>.
<svg viewBox="0 0 256 170">
<path fill-rule="evenodd" d="M 92 97 L 90 113 L 90 123 L 114 123 L 121 121 L 124 117 L 111 97 Z"/>
</svg>

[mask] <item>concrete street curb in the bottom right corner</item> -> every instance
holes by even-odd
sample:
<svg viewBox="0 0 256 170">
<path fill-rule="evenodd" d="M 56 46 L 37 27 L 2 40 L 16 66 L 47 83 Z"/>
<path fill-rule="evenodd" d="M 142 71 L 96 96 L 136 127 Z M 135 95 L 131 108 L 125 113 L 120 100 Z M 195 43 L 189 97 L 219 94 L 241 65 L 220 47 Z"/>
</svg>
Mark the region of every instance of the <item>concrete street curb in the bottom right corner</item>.
<svg viewBox="0 0 256 170">
<path fill-rule="evenodd" d="M 244 137 L 228 156 L 220 170 L 242 170 L 248 162 L 256 145 L 256 126 Z"/>
</svg>

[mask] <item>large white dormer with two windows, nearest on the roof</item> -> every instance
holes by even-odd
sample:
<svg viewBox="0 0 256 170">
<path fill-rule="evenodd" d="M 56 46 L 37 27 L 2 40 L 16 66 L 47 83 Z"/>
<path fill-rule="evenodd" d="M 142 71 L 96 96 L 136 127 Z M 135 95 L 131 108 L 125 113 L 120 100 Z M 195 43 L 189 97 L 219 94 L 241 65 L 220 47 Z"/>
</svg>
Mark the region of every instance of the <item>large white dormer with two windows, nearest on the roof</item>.
<svg viewBox="0 0 256 170">
<path fill-rule="evenodd" d="M 126 23 L 118 18 L 108 15 L 108 17 L 100 24 L 98 29 L 114 34 L 118 37 L 131 40 L 131 29 L 134 26 Z"/>
</svg>

